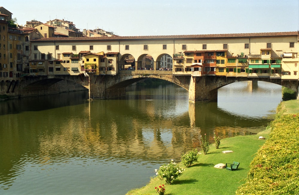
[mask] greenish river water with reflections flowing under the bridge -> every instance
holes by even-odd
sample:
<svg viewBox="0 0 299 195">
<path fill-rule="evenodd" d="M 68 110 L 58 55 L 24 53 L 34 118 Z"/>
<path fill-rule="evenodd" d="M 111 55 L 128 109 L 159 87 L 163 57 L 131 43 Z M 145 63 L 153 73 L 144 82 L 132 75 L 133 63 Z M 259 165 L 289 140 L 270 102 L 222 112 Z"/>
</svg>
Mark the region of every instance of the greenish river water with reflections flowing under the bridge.
<svg viewBox="0 0 299 195">
<path fill-rule="evenodd" d="M 214 132 L 263 130 L 281 100 L 281 86 L 266 82 L 233 83 L 218 102 L 196 104 L 173 84 L 128 90 L 93 102 L 86 91 L 0 102 L 0 194 L 126 194 L 205 133 L 213 142 Z"/>
</svg>

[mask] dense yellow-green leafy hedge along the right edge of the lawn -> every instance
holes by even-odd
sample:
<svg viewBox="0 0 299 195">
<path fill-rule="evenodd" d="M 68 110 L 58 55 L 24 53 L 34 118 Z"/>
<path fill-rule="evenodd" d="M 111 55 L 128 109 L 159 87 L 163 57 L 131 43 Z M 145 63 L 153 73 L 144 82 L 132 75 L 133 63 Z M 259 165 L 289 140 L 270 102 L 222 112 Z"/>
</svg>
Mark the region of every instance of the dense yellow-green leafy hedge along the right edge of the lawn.
<svg viewBox="0 0 299 195">
<path fill-rule="evenodd" d="M 299 113 L 278 115 L 236 194 L 299 194 Z"/>
</svg>

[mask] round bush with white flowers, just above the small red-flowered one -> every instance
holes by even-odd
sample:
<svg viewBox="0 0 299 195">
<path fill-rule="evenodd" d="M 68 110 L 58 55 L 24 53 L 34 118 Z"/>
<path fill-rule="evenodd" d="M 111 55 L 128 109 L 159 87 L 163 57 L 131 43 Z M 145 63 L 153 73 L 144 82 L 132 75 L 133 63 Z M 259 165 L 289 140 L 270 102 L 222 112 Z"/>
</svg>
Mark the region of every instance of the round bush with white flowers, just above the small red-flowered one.
<svg viewBox="0 0 299 195">
<path fill-rule="evenodd" d="M 155 171 L 161 180 L 165 180 L 167 184 L 171 184 L 176 178 L 181 176 L 185 170 L 171 160 L 170 163 L 161 165 L 159 170 L 155 169 Z"/>
</svg>

